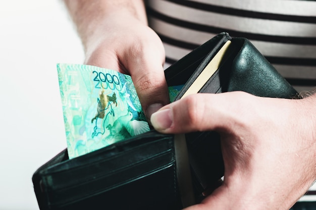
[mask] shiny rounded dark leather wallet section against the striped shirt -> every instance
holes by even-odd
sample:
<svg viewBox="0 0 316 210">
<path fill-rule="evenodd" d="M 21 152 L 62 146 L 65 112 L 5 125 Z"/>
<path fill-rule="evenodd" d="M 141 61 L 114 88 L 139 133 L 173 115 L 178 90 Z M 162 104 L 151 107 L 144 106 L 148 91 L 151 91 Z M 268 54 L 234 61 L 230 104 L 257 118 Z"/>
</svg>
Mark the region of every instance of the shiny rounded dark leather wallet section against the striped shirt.
<svg viewBox="0 0 316 210">
<path fill-rule="evenodd" d="M 240 45 L 232 65 L 227 91 L 244 91 L 255 96 L 293 98 L 297 92 L 247 39 L 235 38 Z"/>
</svg>

